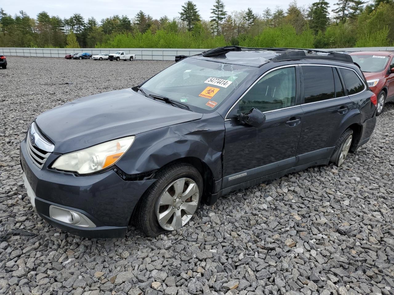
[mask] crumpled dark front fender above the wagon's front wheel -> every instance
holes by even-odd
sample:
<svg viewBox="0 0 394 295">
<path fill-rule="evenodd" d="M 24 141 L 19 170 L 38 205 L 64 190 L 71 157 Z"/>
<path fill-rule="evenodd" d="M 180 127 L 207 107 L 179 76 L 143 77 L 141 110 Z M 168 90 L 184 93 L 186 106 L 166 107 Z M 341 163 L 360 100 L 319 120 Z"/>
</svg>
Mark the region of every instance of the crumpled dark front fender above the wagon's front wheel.
<svg viewBox="0 0 394 295">
<path fill-rule="evenodd" d="M 160 169 L 184 157 L 193 157 L 210 168 L 216 181 L 222 177 L 224 133 L 224 120 L 219 114 L 204 114 L 200 120 L 136 135 L 132 147 L 116 165 L 132 175 Z"/>
</svg>

